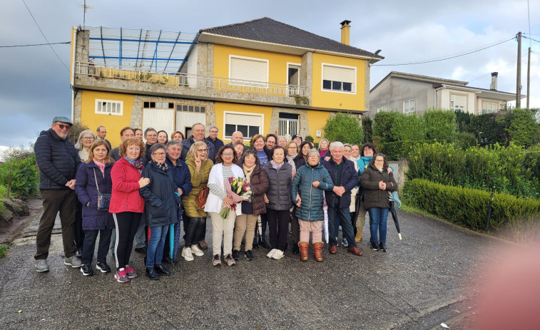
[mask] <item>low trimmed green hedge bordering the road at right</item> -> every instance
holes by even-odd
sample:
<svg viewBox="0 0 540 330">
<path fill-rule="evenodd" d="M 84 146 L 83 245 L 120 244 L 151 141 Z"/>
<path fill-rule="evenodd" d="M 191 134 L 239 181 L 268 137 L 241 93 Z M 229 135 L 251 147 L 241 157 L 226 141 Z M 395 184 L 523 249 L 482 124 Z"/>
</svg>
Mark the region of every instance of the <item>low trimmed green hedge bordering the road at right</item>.
<svg viewBox="0 0 540 330">
<path fill-rule="evenodd" d="M 417 179 L 405 182 L 402 200 L 444 220 L 484 230 L 491 193 Z M 539 214 L 540 200 L 495 194 L 489 230 L 519 230 L 524 219 L 538 219 Z"/>
</svg>

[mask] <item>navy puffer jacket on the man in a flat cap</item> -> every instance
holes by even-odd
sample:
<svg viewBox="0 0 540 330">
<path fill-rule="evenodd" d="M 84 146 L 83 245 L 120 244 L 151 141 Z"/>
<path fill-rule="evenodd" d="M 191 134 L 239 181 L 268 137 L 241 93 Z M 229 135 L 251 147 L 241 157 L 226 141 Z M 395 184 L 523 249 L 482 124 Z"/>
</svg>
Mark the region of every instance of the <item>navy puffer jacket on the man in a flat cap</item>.
<svg viewBox="0 0 540 330">
<path fill-rule="evenodd" d="M 66 183 L 75 179 L 81 163 L 73 143 L 60 138 L 52 128 L 42 130 L 34 145 L 39 167 L 39 189 L 66 190 Z"/>
</svg>

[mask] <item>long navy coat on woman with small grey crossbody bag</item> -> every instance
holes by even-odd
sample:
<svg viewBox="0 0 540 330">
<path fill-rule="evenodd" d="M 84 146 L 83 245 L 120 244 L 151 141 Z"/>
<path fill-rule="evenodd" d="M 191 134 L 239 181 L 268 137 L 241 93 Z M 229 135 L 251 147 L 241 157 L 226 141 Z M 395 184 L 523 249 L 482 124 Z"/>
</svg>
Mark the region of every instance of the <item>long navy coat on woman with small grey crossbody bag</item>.
<svg viewBox="0 0 540 330">
<path fill-rule="evenodd" d="M 96 163 L 82 163 L 77 170 L 77 182 L 75 182 L 75 192 L 78 200 L 83 205 L 83 230 L 111 230 L 114 228 L 113 216 L 108 211 L 98 210 L 98 181 L 99 192 L 110 194 L 113 191 L 113 180 L 111 180 L 111 170 L 113 163 L 105 164 L 105 176 L 101 174 Z M 96 177 L 94 177 L 94 171 Z M 90 204 L 87 206 L 86 204 Z"/>
</svg>

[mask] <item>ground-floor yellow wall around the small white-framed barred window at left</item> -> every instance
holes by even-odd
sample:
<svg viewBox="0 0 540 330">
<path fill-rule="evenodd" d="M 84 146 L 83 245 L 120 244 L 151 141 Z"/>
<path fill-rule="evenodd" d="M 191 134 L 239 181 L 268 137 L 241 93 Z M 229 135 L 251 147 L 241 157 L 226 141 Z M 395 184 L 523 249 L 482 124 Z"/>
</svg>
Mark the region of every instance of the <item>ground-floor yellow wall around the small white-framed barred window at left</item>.
<svg viewBox="0 0 540 330">
<path fill-rule="evenodd" d="M 96 134 L 99 125 L 107 129 L 106 139 L 113 148 L 120 145 L 120 130 L 129 126 L 131 110 L 133 109 L 133 95 L 120 93 L 105 93 L 95 91 L 81 91 L 81 124 Z M 96 99 L 123 101 L 123 115 L 103 115 L 96 113 Z"/>
</svg>

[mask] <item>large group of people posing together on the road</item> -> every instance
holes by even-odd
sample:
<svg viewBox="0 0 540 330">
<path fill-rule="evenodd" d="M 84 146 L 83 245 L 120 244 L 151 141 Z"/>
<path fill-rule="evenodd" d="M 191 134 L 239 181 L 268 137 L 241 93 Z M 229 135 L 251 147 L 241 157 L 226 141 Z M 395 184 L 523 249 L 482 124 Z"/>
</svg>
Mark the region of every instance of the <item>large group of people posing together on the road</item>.
<svg viewBox="0 0 540 330">
<path fill-rule="evenodd" d="M 275 134 L 256 134 L 247 148 L 239 131 L 231 142 L 218 138 L 218 128 L 197 123 L 192 135 L 126 127 L 121 144 L 111 150 L 106 128 L 84 130 L 73 145 L 71 120 L 55 117 L 35 144 L 44 214 L 36 237 L 36 270 L 49 271 L 47 257 L 58 212 L 62 225 L 64 264 L 85 276 L 96 269 L 112 272 L 125 283 L 138 277 L 130 266 L 133 245 L 145 254 L 146 277 L 157 280 L 171 273 L 164 264 L 174 252 L 191 262 L 205 255 L 206 220 L 212 222 L 213 265 L 233 266 L 253 260 L 253 249 L 268 249 L 267 257 L 282 259 L 289 238 L 292 253 L 306 261 L 311 243 L 322 262 L 323 233 L 330 254 L 342 244 L 357 256 L 362 251 L 366 213 L 370 217 L 370 247 L 386 252 L 389 193 L 397 190 L 386 157 L 372 143 L 343 144 L 311 141 L 294 135 L 287 141 Z M 146 141 L 146 142 L 145 142 Z M 235 191 L 231 182 L 243 182 Z M 236 182 L 236 181 L 235 181 Z M 327 228 L 323 223 L 327 219 Z M 178 247 L 183 225 L 183 247 Z M 265 239 L 268 229 L 268 242 Z M 292 232 L 291 237 L 289 233 Z M 174 244 L 169 244 L 170 237 Z M 222 247 L 223 244 L 223 247 Z M 195 256 L 195 257 L 194 257 Z"/>
</svg>

